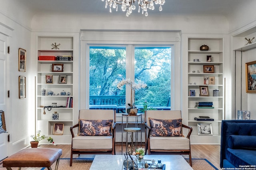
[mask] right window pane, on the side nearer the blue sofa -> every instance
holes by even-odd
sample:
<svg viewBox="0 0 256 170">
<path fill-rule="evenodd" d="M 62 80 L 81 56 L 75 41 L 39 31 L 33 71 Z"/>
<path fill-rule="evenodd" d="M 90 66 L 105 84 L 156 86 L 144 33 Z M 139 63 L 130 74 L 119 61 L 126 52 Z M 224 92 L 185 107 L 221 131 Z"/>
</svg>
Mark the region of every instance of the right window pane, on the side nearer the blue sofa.
<svg viewBox="0 0 256 170">
<path fill-rule="evenodd" d="M 135 103 L 143 108 L 170 109 L 171 48 L 135 47 L 135 81 L 142 81 L 147 88 L 135 92 Z"/>
</svg>

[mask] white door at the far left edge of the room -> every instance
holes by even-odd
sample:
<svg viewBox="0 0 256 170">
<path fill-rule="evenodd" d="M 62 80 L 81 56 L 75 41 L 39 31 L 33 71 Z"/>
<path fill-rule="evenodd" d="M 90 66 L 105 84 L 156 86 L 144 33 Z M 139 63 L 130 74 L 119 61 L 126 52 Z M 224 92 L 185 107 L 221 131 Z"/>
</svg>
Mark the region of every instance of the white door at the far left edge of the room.
<svg viewBox="0 0 256 170">
<path fill-rule="evenodd" d="M 0 33 L 0 110 L 4 111 L 4 116 L 8 117 L 8 36 Z M 6 118 L 5 118 L 6 120 Z M 7 123 L 7 122 L 6 122 Z M 8 131 L 8 126 L 6 124 L 6 130 Z M 0 160 L 6 158 L 9 153 L 8 146 L 8 133 L 0 134 Z"/>
</svg>

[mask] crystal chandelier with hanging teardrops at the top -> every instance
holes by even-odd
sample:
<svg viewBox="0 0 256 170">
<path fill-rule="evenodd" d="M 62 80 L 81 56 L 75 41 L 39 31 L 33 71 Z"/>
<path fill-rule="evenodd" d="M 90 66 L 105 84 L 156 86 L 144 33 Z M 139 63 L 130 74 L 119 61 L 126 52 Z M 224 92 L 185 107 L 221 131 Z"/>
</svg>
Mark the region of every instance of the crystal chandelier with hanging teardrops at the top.
<svg viewBox="0 0 256 170">
<path fill-rule="evenodd" d="M 136 1 L 138 1 L 138 4 L 135 4 Z M 102 2 L 104 2 L 104 0 L 102 0 Z M 132 14 L 132 10 L 136 9 L 136 5 L 138 5 L 138 12 L 140 13 L 141 10 L 142 14 L 145 12 L 145 16 L 148 16 L 148 9 L 155 9 L 154 3 L 160 5 L 159 11 L 163 10 L 162 5 L 164 5 L 165 0 L 106 0 L 105 8 L 109 6 L 109 12 L 112 12 L 111 7 L 118 11 L 118 5 L 121 5 L 122 11 L 126 11 L 126 16 L 129 16 Z"/>
</svg>

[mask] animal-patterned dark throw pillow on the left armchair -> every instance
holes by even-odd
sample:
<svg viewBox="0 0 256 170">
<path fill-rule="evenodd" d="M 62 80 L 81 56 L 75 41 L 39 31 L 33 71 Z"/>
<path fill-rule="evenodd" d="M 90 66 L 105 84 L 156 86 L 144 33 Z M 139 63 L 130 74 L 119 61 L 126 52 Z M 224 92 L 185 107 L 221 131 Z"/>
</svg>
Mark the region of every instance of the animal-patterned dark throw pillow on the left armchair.
<svg viewBox="0 0 256 170">
<path fill-rule="evenodd" d="M 78 136 L 112 136 L 112 121 L 79 119 Z"/>
</svg>

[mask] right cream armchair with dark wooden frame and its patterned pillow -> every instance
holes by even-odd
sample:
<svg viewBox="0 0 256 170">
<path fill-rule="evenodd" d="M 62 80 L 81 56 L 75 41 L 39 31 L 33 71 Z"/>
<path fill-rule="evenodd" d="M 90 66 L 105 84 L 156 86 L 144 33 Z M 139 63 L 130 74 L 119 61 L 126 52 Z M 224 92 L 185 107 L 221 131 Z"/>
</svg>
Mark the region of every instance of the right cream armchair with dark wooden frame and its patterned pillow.
<svg viewBox="0 0 256 170">
<path fill-rule="evenodd" d="M 189 129 L 184 137 L 183 129 Z M 190 135 L 192 128 L 182 124 L 180 110 L 145 111 L 145 139 L 148 154 L 166 152 L 167 154 L 188 154 L 190 166 Z"/>
</svg>

